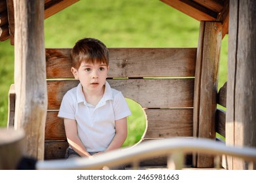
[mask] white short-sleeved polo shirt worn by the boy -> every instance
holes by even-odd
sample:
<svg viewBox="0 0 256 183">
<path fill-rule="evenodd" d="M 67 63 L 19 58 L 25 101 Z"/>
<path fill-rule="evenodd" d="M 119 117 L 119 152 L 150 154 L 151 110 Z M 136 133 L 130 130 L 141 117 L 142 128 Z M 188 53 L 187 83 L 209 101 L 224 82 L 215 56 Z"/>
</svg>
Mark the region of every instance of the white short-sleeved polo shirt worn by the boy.
<svg viewBox="0 0 256 183">
<path fill-rule="evenodd" d="M 82 85 L 65 93 L 58 117 L 76 120 L 77 133 L 88 152 L 106 150 L 115 136 L 115 120 L 131 114 L 121 92 L 105 82 L 105 92 L 96 107 L 84 99 Z"/>
</svg>

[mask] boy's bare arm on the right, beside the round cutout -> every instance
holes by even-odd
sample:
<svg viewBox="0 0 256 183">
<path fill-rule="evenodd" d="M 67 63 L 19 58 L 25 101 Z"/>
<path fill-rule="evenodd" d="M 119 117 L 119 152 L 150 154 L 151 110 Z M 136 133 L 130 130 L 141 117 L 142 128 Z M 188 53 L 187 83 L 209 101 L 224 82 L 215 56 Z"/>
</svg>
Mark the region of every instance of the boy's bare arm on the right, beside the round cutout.
<svg viewBox="0 0 256 183">
<path fill-rule="evenodd" d="M 122 146 L 127 137 L 127 118 L 115 121 L 116 135 L 105 152 L 118 149 Z"/>
</svg>

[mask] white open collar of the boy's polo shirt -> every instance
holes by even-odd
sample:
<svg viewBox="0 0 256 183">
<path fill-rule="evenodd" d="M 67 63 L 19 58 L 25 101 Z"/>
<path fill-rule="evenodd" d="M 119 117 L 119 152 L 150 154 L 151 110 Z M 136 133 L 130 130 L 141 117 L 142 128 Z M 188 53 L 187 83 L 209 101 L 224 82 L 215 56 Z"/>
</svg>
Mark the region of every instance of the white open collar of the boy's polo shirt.
<svg viewBox="0 0 256 183">
<path fill-rule="evenodd" d="M 108 100 L 113 100 L 113 92 L 111 90 L 111 86 L 106 81 L 105 82 L 105 91 L 104 91 L 101 101 L 108 101 Z M 81 84 L 81 82 L 79 82 L 79 84 L 77 86 L 77 103 L 81 103 L 81 102 L 86 103 L 86 101 L 84 99 L 84 93 L 82 93 L 82 84 Z"/>
</svg>

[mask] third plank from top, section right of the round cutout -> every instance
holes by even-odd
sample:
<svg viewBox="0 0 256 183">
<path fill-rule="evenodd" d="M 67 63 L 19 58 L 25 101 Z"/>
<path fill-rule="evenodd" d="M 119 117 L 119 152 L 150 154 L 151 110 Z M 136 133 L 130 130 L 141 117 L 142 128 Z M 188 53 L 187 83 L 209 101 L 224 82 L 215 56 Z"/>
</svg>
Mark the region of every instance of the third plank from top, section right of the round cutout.
<svg viewBox="0 0 256 183">
<path fill-rule="evenodd" d="M 146 109 L 144 138 L 192 137 L 193 109 Z"/>
</svg>

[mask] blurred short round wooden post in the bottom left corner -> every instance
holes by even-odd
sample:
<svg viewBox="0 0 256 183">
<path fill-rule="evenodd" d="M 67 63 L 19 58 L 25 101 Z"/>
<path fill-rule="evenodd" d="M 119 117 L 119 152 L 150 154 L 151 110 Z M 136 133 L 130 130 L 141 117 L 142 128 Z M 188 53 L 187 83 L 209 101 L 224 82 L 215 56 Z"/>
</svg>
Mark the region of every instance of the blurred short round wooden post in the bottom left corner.
<svg viewBox="0 0 256 183">
<path fill-rule="evenodd" d="M 22 129 L 15 131 L 13 128 L 0 128 L 0 169 L 16 169 L 24 155 L 24 137 Z"/>
</svg>

